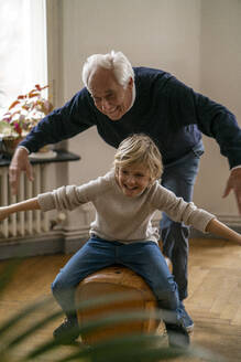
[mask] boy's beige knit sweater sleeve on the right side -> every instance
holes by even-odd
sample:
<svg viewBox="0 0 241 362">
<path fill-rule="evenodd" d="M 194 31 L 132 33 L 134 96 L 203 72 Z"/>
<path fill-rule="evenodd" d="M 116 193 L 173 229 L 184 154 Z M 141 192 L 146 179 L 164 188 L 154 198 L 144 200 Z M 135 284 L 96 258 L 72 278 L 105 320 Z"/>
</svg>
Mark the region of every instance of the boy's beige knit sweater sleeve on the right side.
<svg viewBox="0 0 241 362">
<path fill-rule="evenodd" d="M 154 200 L 155 206 L 164 211 L 173 221 L 194 226 L 202 233 L 206 233 L 208 223 L 216 219 L 213 214 L 198 209 L 193 202 L 177 198 L 172 191 L 161 185 L 157 185 Z"/>
</svg>

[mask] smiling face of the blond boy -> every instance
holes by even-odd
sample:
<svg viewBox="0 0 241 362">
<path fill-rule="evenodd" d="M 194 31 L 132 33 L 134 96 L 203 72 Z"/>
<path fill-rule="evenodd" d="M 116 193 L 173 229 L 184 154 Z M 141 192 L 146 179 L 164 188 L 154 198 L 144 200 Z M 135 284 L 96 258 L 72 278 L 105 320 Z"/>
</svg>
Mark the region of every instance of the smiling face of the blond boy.
<svg viewBox="0 0 241 362">
<path fill-rule="evenodd" d="M 152 181 L 149 169 L 142 163 L 119 167 L 116 171 L 116 179 L 121 191 L 128 198 L 142 194 Z"/>
</svg>

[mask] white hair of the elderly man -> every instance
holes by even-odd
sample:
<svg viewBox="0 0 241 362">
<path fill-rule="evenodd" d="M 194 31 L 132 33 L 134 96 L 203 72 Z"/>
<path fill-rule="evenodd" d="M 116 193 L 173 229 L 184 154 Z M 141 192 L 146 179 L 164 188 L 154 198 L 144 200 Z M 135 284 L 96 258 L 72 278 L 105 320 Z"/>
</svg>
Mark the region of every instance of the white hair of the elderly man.
<svg viewBox="0 0 241 362">
<path fill-rule="evenodd" d="M 134 79 L 134 72 L 131 63 L 122 52 L 111 51 L 107 54 L 90 55 L 83 66 L 83 82 L 88 89 L 89 77 L 92 71 L 98 67 L 112 70 L 117 82 L 124 88 L 128 86 L 130 78 Z"/>
</svg>

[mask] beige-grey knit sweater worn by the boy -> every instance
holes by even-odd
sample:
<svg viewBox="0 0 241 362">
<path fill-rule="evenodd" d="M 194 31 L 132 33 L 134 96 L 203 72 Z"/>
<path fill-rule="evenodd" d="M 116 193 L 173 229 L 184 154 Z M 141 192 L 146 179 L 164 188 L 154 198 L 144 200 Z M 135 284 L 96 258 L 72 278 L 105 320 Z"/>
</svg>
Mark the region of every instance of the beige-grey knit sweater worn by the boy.
<svg viewBox="0 0 241 362">
<path fill-rule="evenodd" d="M 156 210 L 164 211 L 172 220 L 193 225 L 205 232 L 215 216 L 197 209 L 193 202 L 163 188 L 158 181 L 136 198 L 128 198 L 119 188 L 113 171 L 80 187 L 67 185 L 42 193 L 37 196 L 42 211 L 57 209 L 74 210 L 91 202 L 96 209 L 96 219 L 90 224 L 90 235 L 107 241 L 122 243 L 156 242 L 160 238 L 157 227 L 152 226 Z"/>
</svg>

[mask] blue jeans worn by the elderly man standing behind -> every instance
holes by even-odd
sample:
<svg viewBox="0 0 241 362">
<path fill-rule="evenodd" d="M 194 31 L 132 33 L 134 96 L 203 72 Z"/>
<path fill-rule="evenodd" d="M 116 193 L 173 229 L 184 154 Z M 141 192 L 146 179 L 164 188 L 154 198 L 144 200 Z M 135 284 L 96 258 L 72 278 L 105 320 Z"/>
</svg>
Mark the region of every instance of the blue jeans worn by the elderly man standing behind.
<svg viewBox="0 0 241 362">
<path fill-rule="evenodd" d="M 204 146 L 200 141 L 188 155 L 166 164 L 162 175 L 162 185 L 173 191 L 177 196 L 190 202 L 199 168 L 199 159 L 202 153 Z M 187 297 L 189 227 L 184 223 L 172 221 L 165 213 L 163 213 L 160 226 L 163 254 L 172 260 L 179 299 L 183 300 Z"/>
</svg>

